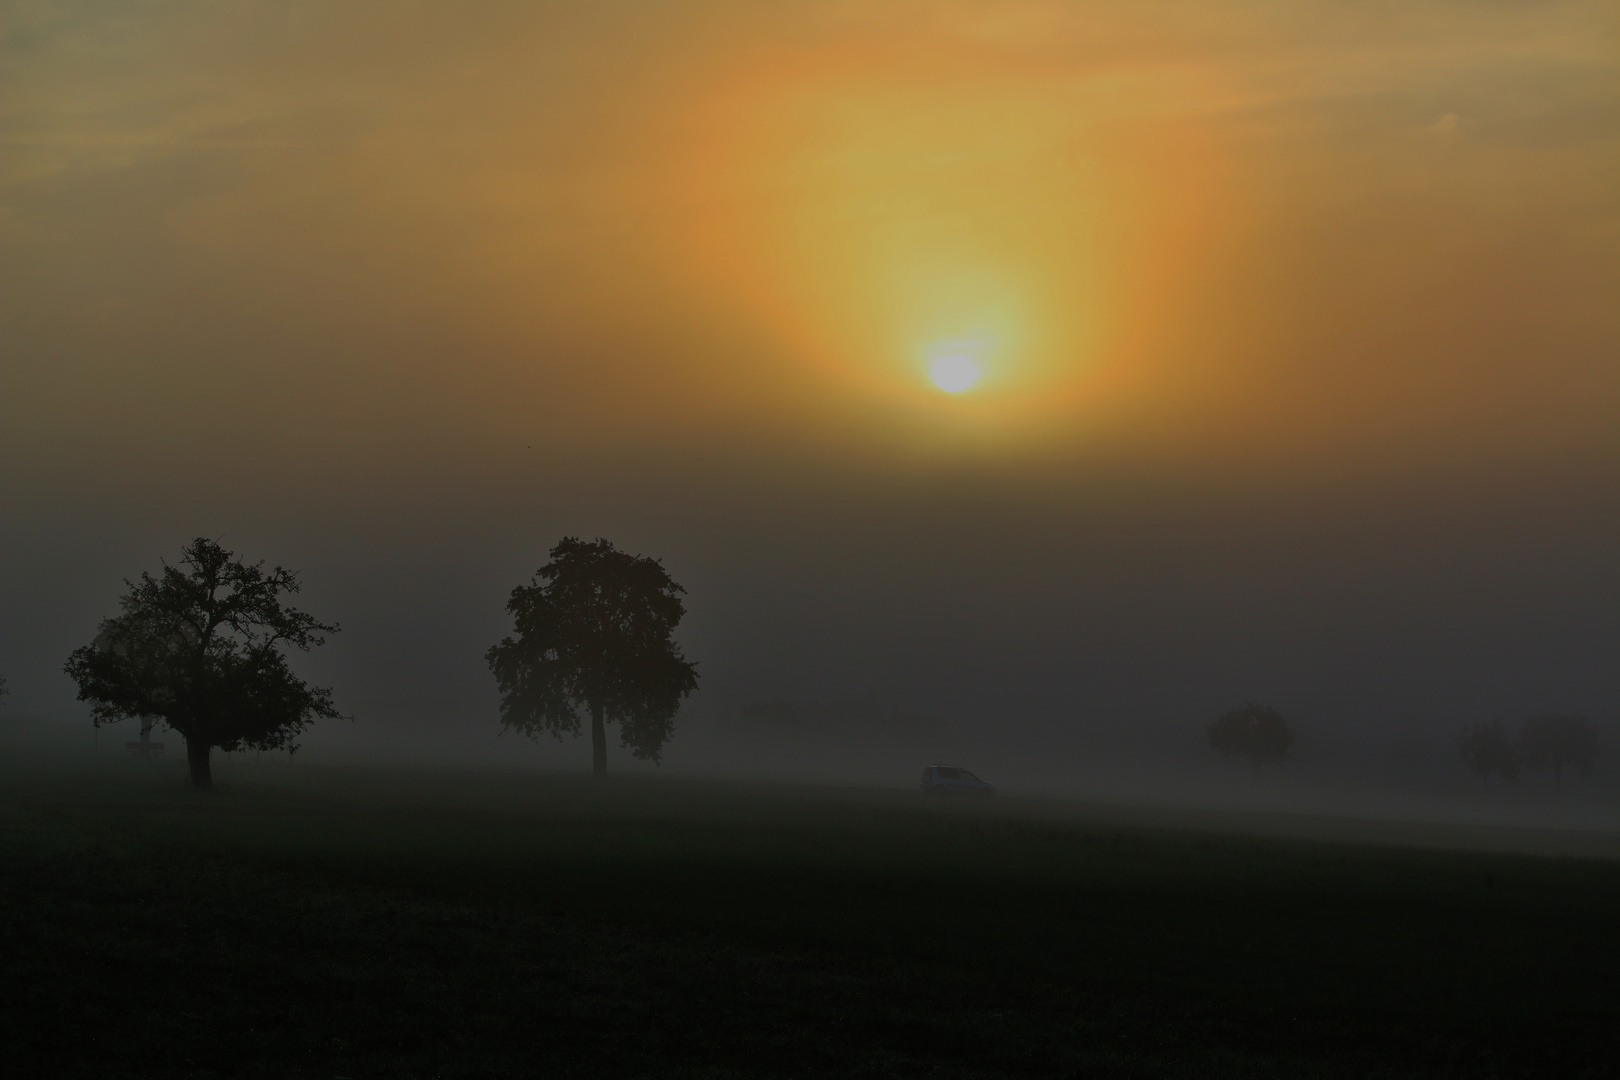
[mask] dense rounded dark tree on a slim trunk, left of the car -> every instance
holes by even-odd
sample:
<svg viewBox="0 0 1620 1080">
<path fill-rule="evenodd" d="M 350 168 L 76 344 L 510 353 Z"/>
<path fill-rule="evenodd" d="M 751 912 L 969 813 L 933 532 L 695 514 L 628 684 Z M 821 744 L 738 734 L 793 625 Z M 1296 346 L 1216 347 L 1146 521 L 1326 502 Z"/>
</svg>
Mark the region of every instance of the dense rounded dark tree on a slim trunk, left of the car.
<svg viewBox="0 0 1620 1080">
<path fill-rule="evenodd" d="M 580 733 L 591 717 L 591 772 L 608 776 L 606 724 L 637 758 L 658 761 L 676 709 L 698 685 L 671 635 L 685 593 L 656 559 L 565 536 L 530 585 L 512 589 L 517 638 L 488 653 L 501 722 L 536 738 Z"/>
</svg>

